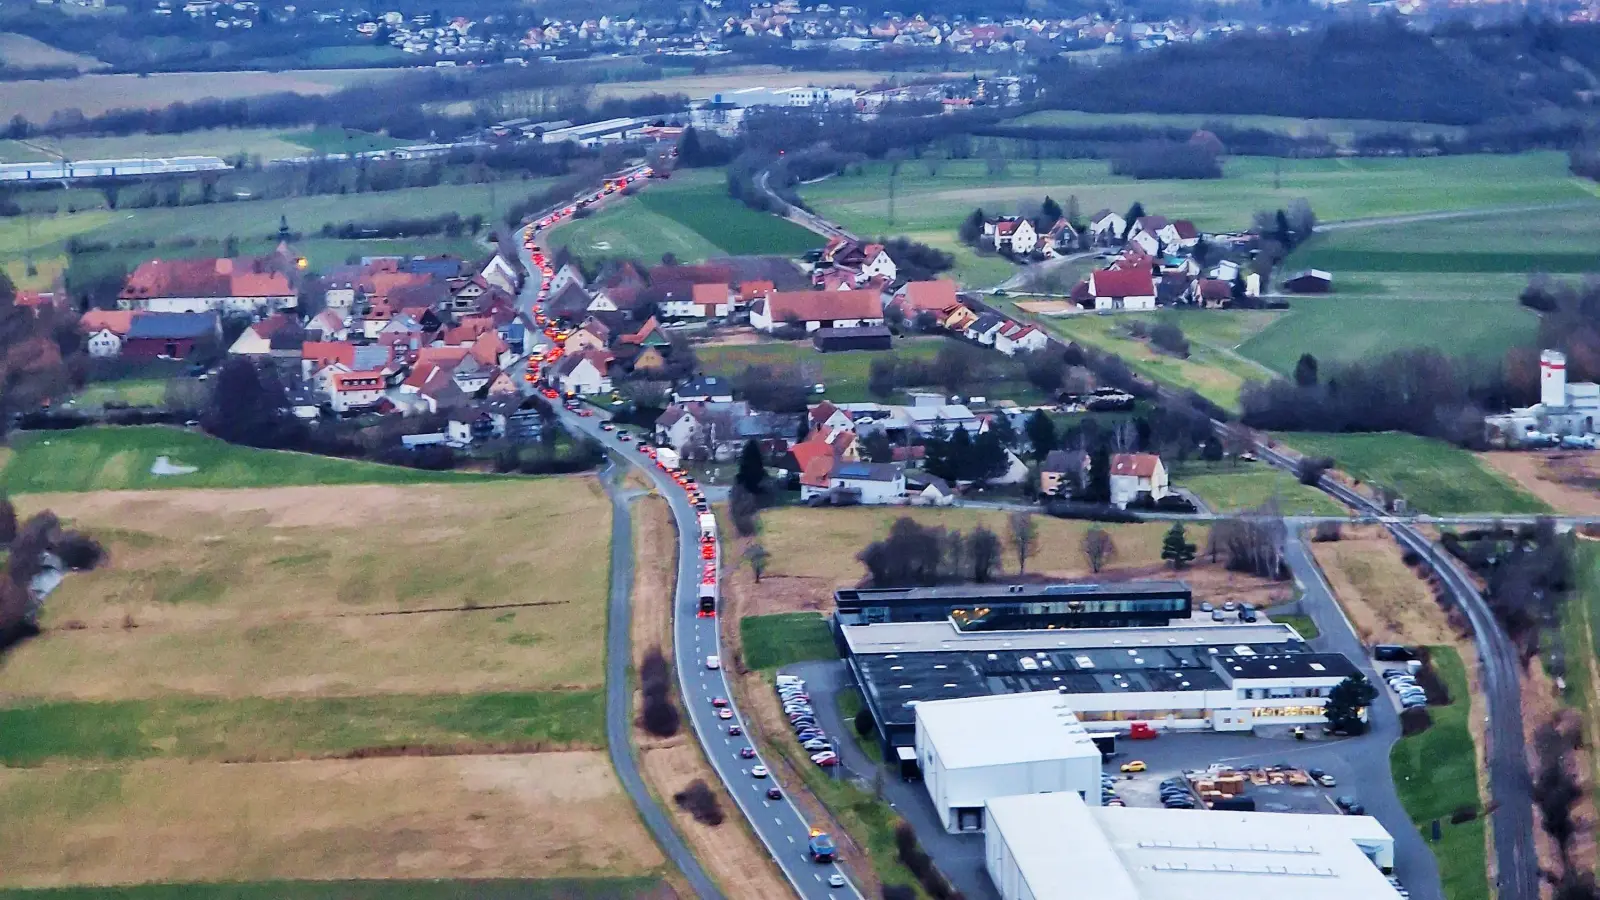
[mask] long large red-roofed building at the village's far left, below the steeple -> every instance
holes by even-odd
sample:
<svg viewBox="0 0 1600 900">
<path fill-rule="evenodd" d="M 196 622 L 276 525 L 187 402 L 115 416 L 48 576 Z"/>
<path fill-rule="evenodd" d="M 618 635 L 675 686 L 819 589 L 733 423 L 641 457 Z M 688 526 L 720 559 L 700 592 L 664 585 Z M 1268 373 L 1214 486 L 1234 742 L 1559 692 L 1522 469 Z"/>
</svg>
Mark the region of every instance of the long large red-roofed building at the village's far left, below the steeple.
<svg viewBox="0 0 1600 900">
<path fill-rule="evenodd" d="M 294 306 L 294 285 L 262 259 L 149 259 L 117 306 L 150 312 L 258 312 Z"/>
</svg>

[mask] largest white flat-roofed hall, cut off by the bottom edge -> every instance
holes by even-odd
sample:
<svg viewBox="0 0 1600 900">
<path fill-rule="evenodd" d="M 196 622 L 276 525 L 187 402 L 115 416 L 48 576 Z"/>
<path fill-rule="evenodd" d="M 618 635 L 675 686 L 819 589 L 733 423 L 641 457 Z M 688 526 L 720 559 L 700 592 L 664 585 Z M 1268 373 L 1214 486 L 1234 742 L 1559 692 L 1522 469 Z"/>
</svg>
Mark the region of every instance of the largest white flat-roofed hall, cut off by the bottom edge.
<svg viewBox="0 0 1600 900">
<path fill-rule="evenodd" d="M 1101 807 L 995 798 L 984 865 L 1002 900 L 1398 900 L 1394 838 L 1366 815 Z"/>
</svg>

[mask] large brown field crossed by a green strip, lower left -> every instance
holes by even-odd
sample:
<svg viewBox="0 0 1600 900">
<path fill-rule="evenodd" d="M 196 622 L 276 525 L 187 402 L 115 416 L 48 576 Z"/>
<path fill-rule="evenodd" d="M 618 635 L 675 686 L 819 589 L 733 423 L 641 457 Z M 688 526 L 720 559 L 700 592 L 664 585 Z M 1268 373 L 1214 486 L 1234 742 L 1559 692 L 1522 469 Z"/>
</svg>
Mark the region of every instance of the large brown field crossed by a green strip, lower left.
<svg viewBox="0 0 1600 900">
<path fill-rule="evenodd" d="M 600 749 L 594 479 L 19 500 L 109 562 L 0 669 L 5 887 L 662 874 Z"/>
</svg>

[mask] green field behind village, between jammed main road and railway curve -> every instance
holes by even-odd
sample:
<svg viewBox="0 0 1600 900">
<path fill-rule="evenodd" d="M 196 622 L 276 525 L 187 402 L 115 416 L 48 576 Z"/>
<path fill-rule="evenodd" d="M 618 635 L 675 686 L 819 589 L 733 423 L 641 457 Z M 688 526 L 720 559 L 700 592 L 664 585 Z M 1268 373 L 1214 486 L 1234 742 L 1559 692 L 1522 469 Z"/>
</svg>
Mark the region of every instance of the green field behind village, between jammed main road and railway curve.
<svg viewBox="0 0 1600 900">
<path fill-rule="evenodd" d="M 794 223 L 758 213 L 733 197 L 722 170 L 685 170 L 650 183 L 598 213 L 550 232 L 550 242 L 589 258 L 656 263 L 672 253 L 683 263 L 709 256 L 798 256 L 822 239 Z"/>
</svg>

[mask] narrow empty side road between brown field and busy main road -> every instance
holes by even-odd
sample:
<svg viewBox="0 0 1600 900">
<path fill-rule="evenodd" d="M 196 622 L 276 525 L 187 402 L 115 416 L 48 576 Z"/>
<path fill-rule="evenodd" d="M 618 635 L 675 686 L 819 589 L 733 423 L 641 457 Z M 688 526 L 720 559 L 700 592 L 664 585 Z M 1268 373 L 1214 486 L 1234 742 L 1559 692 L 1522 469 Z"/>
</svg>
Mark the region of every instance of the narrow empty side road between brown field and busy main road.
<svg viewBox="0 0 1600 900">
<path fill-rule="evenodd" d="M 622 790 L 638 809 L 645 826 L 661 844 L 661 850 L 678 866 L 701 900 L 723 900 L 722 890 L 701 868 L 699 860 L 672 828 L 666 810 L 656 806 L 634 759 L 634 687 L 627 677 L 634 658 L 629 628 L 634 621 L 634 517 L 629 512 L 632 493 L 624 492 L 613 476 L 614 463 L 600 472 L 600 484 L 611 498 L 611 599 L 606 609 L 605 634 L 605 743 L 611 751 Z"/>
</svg>

